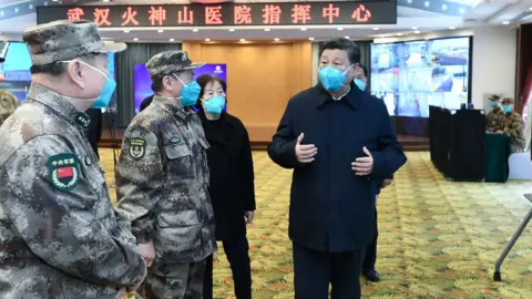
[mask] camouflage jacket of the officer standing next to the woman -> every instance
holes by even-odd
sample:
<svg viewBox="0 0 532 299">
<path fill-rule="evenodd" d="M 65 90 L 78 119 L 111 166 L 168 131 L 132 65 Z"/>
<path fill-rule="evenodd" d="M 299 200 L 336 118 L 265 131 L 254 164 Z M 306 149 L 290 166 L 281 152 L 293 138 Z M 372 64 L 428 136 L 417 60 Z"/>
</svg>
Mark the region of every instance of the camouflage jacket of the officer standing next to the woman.
<svg viewBox="0 0 532 299">
<path fill-rule="evenodd" d="M 208 143 L 192 109 L 154 96 L 124 134 L 116 165 L 119 208 L 156 258 L 197 261 L 216 249 L 208 196 Z"/>
</svg>

